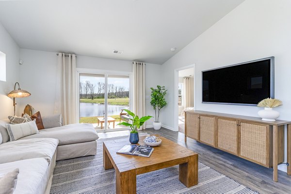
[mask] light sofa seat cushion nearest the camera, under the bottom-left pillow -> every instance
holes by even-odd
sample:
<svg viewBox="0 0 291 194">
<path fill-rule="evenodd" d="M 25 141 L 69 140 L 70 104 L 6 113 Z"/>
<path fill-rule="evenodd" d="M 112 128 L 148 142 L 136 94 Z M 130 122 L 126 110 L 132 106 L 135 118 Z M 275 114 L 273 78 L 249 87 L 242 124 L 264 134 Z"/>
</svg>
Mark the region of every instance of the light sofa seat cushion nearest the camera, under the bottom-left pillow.
<svg viewBox="0 0 291 194">
<path fill-rule="evenodd" d="M 0 176 L 18 168 L 16 188 L 13 194 L 40 194 L 39 188 L 46 187 L 43 177 L 47 176 L 48 162 L 44 158 L 33 158 L 0 164 Z"/>
</svg>

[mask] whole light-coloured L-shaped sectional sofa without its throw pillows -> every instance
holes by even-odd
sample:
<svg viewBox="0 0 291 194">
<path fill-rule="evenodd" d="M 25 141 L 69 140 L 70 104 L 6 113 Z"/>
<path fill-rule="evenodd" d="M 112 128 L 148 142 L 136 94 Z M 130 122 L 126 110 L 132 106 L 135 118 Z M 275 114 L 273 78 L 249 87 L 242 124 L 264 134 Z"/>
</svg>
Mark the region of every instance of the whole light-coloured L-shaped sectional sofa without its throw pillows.
<svg viewBox="0 0 291 194">
<path fill-rule="evenodd" d="M 49 193 L 56 161 L 96 154 L 98 135 L 93 125 L 62 126 L 60 115 L 42 120 L 45 129 L 16 141 L 9 141 L 9 121 L 0 121 L 0 177 L 19 168 L 14 194 Z"/>
</svg>

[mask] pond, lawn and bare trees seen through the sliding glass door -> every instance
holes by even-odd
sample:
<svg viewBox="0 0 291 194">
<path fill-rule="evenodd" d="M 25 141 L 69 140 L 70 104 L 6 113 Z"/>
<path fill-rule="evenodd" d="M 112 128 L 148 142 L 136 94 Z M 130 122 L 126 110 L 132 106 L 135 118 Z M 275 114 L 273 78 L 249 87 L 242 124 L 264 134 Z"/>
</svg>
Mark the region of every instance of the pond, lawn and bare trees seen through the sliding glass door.
<svg viewBox="0 0 291 194">
<path fill-rule="evenodd" d="M 123 109 L 129 108 L 129 76 L 80 75 L 80 123 L 93 123 L 97 129 L 105 129 L 105 87 L 108 88 L 107 129 L 118 129 L 120 121 L 128 121 Z"/>
</svg>

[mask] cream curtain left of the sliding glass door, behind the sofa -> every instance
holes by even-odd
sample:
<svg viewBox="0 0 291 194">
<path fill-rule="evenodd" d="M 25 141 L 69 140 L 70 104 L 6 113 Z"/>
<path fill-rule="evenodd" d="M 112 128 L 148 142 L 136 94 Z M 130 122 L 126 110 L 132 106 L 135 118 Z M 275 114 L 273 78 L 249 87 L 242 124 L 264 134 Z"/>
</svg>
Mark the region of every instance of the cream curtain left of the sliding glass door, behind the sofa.
<svg viewBox="0 0 291 194">
<path fill-rule="evenodd" d="M 58 53 L 55 114 L 63 124 L 77 123 L 76 55 Z"/>
</svg>

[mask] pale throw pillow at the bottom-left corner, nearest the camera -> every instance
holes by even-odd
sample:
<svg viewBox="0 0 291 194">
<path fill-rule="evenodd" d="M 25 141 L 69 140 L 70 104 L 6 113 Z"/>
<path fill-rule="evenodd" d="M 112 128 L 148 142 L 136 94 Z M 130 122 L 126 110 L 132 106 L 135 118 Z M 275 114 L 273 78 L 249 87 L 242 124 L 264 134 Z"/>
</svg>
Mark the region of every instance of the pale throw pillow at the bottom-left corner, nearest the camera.
<svg viewBox="0 0 291 194">
<path fill-rule="evenodd" d="M 8 172 L 4 176 L 0 177 L 0 193 L 1 194 L 13 194 L 16 183 L 17 183 L 17 176 L 19 174 L 19 168 Z"/>
</svg>

